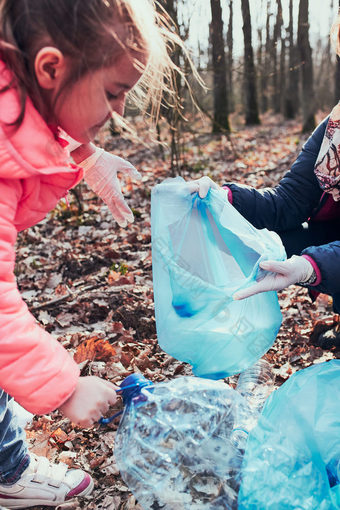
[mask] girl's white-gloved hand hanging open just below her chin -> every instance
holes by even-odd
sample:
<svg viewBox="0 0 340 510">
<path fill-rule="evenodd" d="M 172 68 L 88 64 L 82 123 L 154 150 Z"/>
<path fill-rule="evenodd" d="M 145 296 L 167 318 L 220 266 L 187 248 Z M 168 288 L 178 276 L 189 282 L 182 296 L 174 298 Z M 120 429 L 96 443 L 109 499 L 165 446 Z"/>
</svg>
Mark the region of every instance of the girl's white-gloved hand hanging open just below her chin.
<svg viewBox="0 0 340 510">
<path fill-rule="evenodd" d="M 108 206 L 112 216 L 121 227 L 126 227 L 134 220 L 133 213 L 124 200 L 120 189 L 117 172 L 128 174 L 134 179 L 141 175 L 134 166 L 125 159 L 114 156 L 104 149 L 97 148 L 96 152 L 80 163 L 84 169 L 84 179 Z"/>
</svg>

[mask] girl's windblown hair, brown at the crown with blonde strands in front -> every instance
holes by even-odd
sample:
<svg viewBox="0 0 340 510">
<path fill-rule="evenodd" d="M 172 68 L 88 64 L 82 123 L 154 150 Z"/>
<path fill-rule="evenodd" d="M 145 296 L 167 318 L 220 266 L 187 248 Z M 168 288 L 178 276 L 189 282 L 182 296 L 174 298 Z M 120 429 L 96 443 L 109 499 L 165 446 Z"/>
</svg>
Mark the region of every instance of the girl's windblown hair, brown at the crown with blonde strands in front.
<svg viewBox="0 0 340 510">
<path fill-rule="evenodd" d="M 183 47 L 171 20 L 154 0 L 0 0 L 0 58 L 13 71 L 21 100 L 20 126 L 29 96 L 42 115 L 51 115 L 37 83 L 34 59 L 44 46 L 57 47 L 71 62 L 63 90 L 86 73 L 114 64 L 123 51 L 148 54 L 146 68 L 130 100 L 156 117 L 163 93 L 175 96 L 170 58 Z M 142 66 L 141 62 L 139 65 Z M 2 91 L 7 90 L 8 86 Z M 0 91 L 1 92 L 1 91 Z"/>
</svg>

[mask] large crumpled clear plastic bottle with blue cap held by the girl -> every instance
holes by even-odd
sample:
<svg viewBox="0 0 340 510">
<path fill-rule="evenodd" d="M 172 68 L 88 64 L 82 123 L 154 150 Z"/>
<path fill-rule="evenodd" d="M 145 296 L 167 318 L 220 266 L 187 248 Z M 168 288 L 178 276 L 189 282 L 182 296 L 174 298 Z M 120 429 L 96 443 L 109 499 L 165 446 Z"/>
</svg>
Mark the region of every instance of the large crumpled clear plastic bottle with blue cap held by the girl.
<svg viewBox="0 0 340 510">
<path fill-rule="evenodd" d="M 126 391 L 124 391 L 126 387 Z M 237 508 L 242 453 L 231 442 L 247 400 L 223 382 L 126 378 L 115 441 L 123 480 L 144 510 Z"/>
</svg>

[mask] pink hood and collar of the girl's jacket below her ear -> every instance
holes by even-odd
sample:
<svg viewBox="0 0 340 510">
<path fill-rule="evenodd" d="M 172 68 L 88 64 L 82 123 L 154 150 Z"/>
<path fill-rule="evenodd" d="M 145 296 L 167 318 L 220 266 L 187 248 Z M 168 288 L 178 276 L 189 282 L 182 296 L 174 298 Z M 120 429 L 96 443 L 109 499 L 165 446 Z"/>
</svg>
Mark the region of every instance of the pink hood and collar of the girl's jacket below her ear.
<svg viewBox="0 0 340 510">
<path fill-rule="evenodd" d="M 0 88 L 11 83 L 12 73 L 0 61 Z M 45 120 L 26 100 L 24 119 L 15 131 L 8 127 L 20 113 L 20 99 L 16 86 L 0 93 L 0 161 L 10 159 L 10 165 L 0 165 L 0 178 L 22 179 L 34 175 L 75 172 L 69 151 L 55 138 Z"/>
</svg>

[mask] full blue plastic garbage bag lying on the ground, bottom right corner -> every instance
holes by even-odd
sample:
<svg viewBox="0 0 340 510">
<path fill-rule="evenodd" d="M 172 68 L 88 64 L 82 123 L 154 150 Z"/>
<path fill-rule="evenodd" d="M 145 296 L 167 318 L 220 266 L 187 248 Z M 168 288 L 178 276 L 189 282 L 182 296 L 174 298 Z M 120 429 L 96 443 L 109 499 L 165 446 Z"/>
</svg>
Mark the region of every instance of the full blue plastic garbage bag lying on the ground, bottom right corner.
<svg viewBox="0 0 340 510">
<path fill-rule="evenodd" d="M 250 433 L 239 510 L 340 509 L 340 360 L 300 370 Z"/>
</svg>

